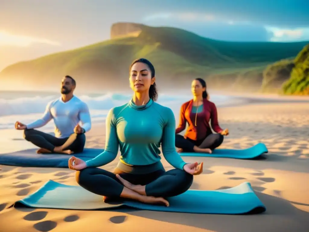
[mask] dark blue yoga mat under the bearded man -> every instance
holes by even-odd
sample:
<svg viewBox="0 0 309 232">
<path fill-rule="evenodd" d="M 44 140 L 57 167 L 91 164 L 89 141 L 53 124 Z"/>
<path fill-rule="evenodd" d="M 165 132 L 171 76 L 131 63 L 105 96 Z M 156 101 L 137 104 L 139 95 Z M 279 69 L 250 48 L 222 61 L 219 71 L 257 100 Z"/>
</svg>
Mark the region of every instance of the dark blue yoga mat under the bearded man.
<svg viewBox="0 0 309 232">
<path fill-rule="evenodd" d="M 28 149 L 0 154 L 0 164 L 20 167 L 69 168 L 68 160 L 72 155 L 37 154 L 36 150 L 37 149 Z M 96 157 L 103 151 L 103 149 L 85 148 L 82 153 L 76 153 L 74 156 L 87 161 Z"/>
</svg>

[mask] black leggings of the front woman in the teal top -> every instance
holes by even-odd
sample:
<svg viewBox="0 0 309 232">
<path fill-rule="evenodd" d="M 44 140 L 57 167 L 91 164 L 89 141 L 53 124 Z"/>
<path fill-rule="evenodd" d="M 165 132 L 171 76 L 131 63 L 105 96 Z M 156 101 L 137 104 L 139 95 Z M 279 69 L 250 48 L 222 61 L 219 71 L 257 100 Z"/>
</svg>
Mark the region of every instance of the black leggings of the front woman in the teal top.
<svg viewBox="0 0 309 232">
<path fill-rule="evenodd" d="M 120 197 L 124 188 L 116 177 L 132 184 L 146 185 L 146 195 L 171 197 L 184 193 L 193 183 L 193 175 L 184 170 L 172 169 L 167 172 L 158 170 L 149 174 L 129 174 L 116 169 L 114 173 L 100 168 L 88 167 L 76 172 L 76 181 L 84 189 L 106 197 Z"/>
</svg>

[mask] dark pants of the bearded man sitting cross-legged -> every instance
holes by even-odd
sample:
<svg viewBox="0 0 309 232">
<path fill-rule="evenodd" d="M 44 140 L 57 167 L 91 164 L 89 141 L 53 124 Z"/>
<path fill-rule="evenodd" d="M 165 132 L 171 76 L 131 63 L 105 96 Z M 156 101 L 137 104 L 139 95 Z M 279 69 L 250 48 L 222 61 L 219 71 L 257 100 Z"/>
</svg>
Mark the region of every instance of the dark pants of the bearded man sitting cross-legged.
<svg viewBox="0 0 309 232">
<path fill-rule="evenodd" d="M 64 150 L 80 153 L 83 152 L 86 143 L 85 134 L 72 134 L 68 138 L 60 139 L 34 129 L 24 130 L 23 137 L 39 148 L 45 148 L 51 152 L 53 152 L 55 147 L 64 145 Z"/>
</svg>

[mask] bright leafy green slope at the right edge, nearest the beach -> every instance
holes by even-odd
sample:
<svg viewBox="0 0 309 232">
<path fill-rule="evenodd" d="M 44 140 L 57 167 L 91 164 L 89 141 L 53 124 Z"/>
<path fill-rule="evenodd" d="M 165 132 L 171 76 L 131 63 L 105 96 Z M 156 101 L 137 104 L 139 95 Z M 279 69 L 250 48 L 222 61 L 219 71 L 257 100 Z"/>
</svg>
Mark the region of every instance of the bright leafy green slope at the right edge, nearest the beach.
<svg viewBox="0 0 309 232">
<path fill-rule="evenodd" d="M 309 44 L 295 58 L 290 76 L 290 79 L 282 85 L 283 92 L 309 95 Z"/>
</svg>

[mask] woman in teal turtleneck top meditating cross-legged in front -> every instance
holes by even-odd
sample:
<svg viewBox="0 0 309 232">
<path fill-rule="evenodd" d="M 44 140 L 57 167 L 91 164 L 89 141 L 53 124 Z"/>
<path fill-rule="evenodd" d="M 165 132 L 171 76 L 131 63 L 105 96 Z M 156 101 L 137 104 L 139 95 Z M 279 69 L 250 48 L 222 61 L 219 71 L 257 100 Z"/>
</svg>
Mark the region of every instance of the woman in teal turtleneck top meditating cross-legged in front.
<svg viewBox="0 0 309 232">
<path fill-rule="evenodd" d="M 166 197 L 189 189 L 193 175 L 201 174 L 203 163 L 185 163 L 175 148 L 175 117 L 171 109 L 155 103 L 155 68 L 146 59 L 130 66 L 129 103 L 112 108 L 106 118 L 106 147 L 97 157 L 83 161 L 69 159 L 78 170 L 78 184 L 107 198 L 130 198 L 144 203 L 169 205 Z M 175 169 L 165 171 L 163 156 Z M 121 157 L 114 172 L 98 167 L 113 161 L 120 147 Z"/>
</svg>

